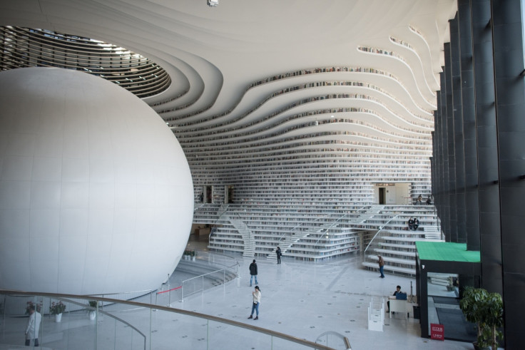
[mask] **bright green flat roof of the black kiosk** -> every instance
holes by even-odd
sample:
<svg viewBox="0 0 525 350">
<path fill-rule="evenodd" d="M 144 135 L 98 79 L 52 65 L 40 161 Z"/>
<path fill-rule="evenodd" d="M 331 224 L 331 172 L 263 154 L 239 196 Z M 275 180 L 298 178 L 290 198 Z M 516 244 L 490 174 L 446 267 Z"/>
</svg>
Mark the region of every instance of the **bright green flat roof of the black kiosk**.
<svg viewBox="0 0 525 350">
<path fill-rule="evenodd" d="M 467 250 L 467 243 L 416 242 L 419 260 L 481 262 L 479 251 Z"/>
</svg>

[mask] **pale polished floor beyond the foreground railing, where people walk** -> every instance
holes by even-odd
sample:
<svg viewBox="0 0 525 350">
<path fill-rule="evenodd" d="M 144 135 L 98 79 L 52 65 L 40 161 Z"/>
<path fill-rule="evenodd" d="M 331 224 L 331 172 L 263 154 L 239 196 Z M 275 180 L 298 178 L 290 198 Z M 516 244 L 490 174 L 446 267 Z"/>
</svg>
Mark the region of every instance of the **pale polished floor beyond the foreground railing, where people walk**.
<svg viewBox="0 0 525 350">
<path fill-rule="evenodd" d="M 188 247 L 205 249 L 202 242 Z M 383 331 L 368 329 L 368 306 L 372 297 L 387 297 L 399 284 L 411 294 L 415 279 L 362 269 L 358 255 L 315 264 L 282 259 L 275 264 L 255 258 L 262 299 L 259 319 L 248 319 L 251 311 L 251 258 L 237 257 L 240 277 L 224 286 L 173 302 L 172 307 L 245 321 L 298 338 L 315 341 L 325 331 L 336 331 L 350 340 L 352 349 L 472 349 L 472 343 L 437 341 L 419 336 L 419 320 L 402 314 L 385 314 Z M 175 273 L 176 274 L 176 273 Z M 446 333 L 445 329 L 445 333 Z M 232 348 L 234 349 L 234 348 Z M 254 344 L 252 349 L 258 349 Z"/>
</svg>

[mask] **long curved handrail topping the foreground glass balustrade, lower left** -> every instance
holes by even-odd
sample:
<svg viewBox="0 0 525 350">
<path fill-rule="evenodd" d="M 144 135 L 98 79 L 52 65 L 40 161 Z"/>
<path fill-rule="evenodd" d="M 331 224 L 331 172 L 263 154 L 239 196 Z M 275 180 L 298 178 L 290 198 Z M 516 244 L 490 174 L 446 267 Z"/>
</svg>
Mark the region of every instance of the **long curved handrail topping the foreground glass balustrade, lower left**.
<svg viewBox="0 0 525 350">
<path fill-rule="evenodd" d="M 44 293 L 44 292 L 20 292 L 20 291 L 9 290 L 9 289 L 0 289 L 0 294 L 17 294 L 17 295 L 28 295 L 28 296 L 39 295 L 41 297 L 50 297 L 50 298 L 56 298 L 56 299 L 58 299 L 58 298 L 96 299 L 99 302 L 126 304 L 126 305 L 130 305 L 130 306 L 133 306 L 133 307 L 143 307 L 143 308 L 151 309 L 151 310 L 157 309 L 157 310 L 162 310 L 162 311 L 165 311 L 165 312 L 171 312 L 173 314 L 183 314 L 183 315 L 186 315 L 186 316 L 197 317 L 199 319 L 205 319 L 207 321 L 215 321 L 215 322 L 218 322 L 220 324 L 227 324 L 227 325 L 235 326 L 235 327 L 242 328 L 242 329 L 248 329 L 250 331 L 255 331 L 255 332 L 258 332 L 260 334 L 266 334 L 266 335 L 269 335 L 269 336 L 275 336 L 276 338 L 284 339 L 285 341 L 291 341 L 292 343 L 300 344 L 302 346 L 307 346 L 307 347 L 312 348 L 312 349 L 317 349 L 317 350 L 335 350 L 333 348 L 330 348 L 328 346 L 324 346 L 322 344 L 315 344 L 312 341 L 307 341 L 305 339 L 300 339 L 300 338 L 297 338 L 295 336 L 290 336 L 288 334 L 280 333 L 278 331 L 272 331 L 270 329 L 265 329 L 265 328 L 261 328 L 261 327 L 258 327 L 258 326 L 253 326 L 253 325 L 247 324 L 245 322 L 243 323 L 243 322 L 239 322 L 239 321 L 233 321 L 231 319 L 223 319 L 222 317 L 218 317 L 218 316 L 211 316 L 211 315 L 206 315 L 206 314 L 200 314 L 199 312 L 193 312 L 193 311 L 188 311 L 188 310 L 183 310 L 183 309 L 175 309 L 173 307 L 161 307 L 159 305 L 146 304 L 146 303 L 142 303 L 142 302 L 133 302 L 131 300 L 119 300 L 119 299 L 101 298 L 101 297 L 93 298 L 91 296 L 83 296 L 83 295 L 75 295 L 75 294 L 55 294 L 55 293 Z"/>
</svg>

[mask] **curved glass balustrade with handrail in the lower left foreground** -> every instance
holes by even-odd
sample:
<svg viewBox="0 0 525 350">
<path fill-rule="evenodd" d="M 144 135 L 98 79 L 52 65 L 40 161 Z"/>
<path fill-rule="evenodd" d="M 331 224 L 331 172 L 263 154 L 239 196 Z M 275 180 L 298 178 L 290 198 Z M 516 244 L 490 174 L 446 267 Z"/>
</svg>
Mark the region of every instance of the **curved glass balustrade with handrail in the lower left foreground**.
<svg viewBox="0 0 525 350">
<path fill-rule="evenodd" d="M 65 304 L 61 321 L 49 314 L 52 302 Z M 90 307 L 89 301 L 97 301 Z M 39 346 L 51 349 L 319 349 L 328 346 L 258 326 L 188 310 L 88 295 L 0 289 L 0 344 L 24 345 L 26 308 L 42 315 Z M 88 314 L 95 312 L 91 319 Z M 31 343 L 31 346 L 34 346 Z M 1 347 L 1 346 L 0 346 Z"/>
</svg>

